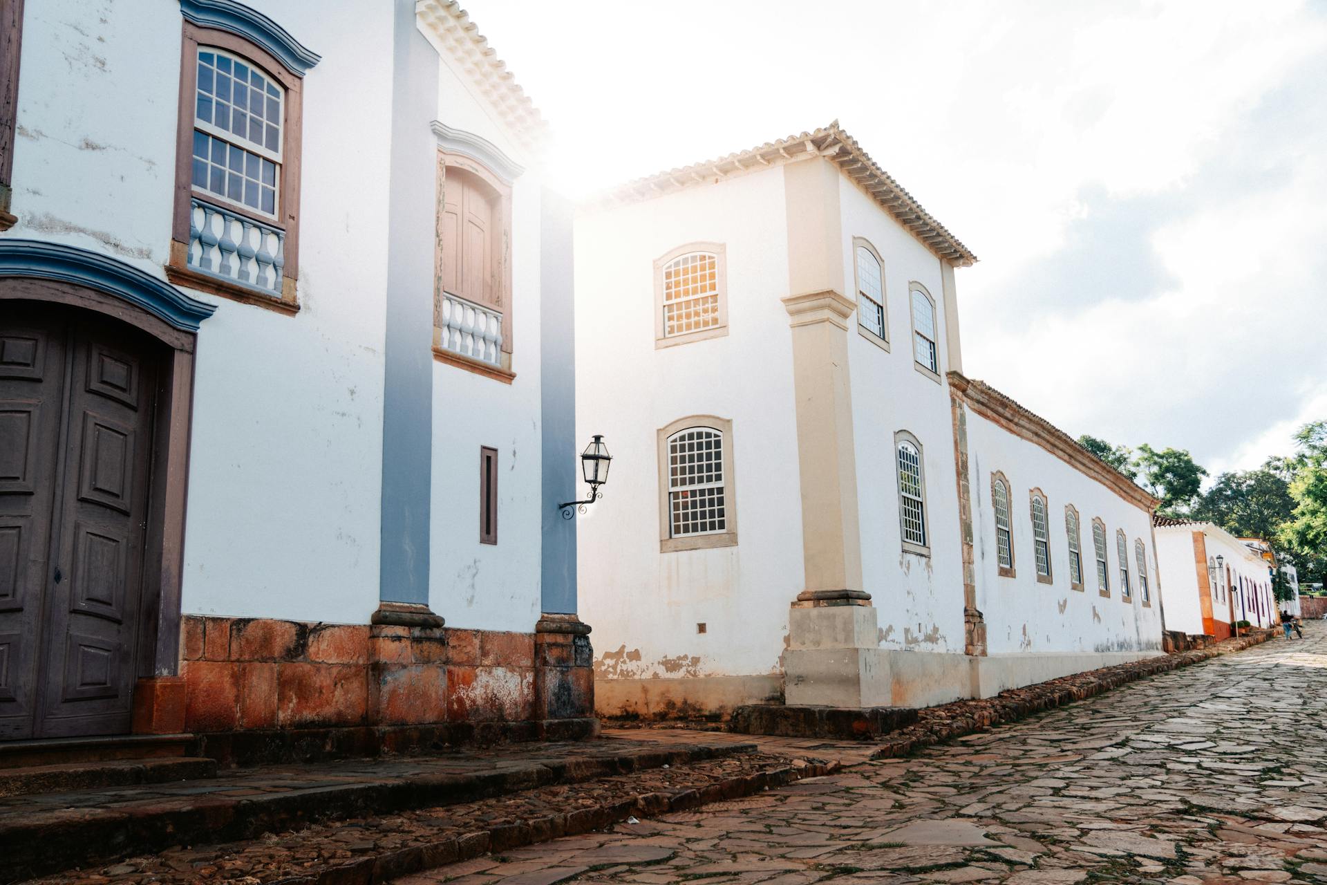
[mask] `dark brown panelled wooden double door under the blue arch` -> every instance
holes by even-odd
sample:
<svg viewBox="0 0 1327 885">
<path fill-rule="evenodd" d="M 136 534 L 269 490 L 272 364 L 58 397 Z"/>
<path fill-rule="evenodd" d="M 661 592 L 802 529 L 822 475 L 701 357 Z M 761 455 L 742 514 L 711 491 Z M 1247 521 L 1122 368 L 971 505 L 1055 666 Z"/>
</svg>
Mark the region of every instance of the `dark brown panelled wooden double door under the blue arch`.
<svg viewBox="0 0 1327 885">
<path fill-rule="evenodd" d="M 130 728 L 159 346 L 0 300 L 0 739 Z"/>
</svg>

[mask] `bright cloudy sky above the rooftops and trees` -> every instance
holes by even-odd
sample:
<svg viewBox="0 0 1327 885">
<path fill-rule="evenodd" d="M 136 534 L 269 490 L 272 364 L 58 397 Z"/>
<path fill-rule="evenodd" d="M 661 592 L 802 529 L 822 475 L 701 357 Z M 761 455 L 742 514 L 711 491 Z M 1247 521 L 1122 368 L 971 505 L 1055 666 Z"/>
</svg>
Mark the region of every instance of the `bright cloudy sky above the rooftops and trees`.
<svg viewBox="0 0 1327 885">
<path fill-rule="evenodd" d="M 837 118 L 981 256 L 969 375 L 1213 474 L 1327 418 L 1327 1 L 464 5 L 573 196 Z"/>
</svg>

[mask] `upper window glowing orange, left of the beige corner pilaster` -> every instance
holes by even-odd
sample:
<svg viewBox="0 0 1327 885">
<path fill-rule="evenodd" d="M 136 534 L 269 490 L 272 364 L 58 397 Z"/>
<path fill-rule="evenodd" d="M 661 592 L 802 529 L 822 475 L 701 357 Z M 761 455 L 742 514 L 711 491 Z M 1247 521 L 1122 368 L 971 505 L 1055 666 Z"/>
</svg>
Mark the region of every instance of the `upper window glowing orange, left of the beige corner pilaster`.
<svg viewBox="0 0 1327 885">
<path fill-rule="evenodd" d="M 654 260 L 654 346 L 729 333 L 727 251 L 687 243 Z"/>
</svg>

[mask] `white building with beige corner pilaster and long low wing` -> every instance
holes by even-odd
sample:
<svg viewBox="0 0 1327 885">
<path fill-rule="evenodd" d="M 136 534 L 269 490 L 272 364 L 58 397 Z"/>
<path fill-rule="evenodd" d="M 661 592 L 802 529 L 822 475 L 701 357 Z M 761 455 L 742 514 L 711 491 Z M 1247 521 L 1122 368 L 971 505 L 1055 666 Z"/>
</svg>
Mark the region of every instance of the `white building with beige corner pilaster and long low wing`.
<svg viewBox="0 0 1327 885">
<path fill-rule="evenodd" d="M 577 215 L 601 713 L 920 706 L 1160 651 L 1154 502 L 962 374 L 973 261 L 836 123 Z"/>
</svg>

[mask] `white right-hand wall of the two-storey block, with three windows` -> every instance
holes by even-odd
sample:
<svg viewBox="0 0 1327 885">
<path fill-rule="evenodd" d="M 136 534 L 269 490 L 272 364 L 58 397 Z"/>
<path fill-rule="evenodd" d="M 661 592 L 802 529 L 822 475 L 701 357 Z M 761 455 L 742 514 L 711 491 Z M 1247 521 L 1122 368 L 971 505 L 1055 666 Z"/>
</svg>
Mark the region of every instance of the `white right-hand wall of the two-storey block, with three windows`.
<svg viewBox="0 0 1327 885">
<path fill-rule="evenodd" d="M 856 296 L 853 238 L 871 241 L 884 260 L 890 350 L 857 332 L 849 317 L 853 446 L 861 525 L 863 585 L 872 594 L 880 646 L 963 653 L 963 572 L 954 479 L 954 434 L 947 382 L 913 368 L 909 284 L 936 299 L 941 378 L 949 370 L 940 259 L 852 182 L 840 176 L 844 280 Z M 922 446 L 930 556 L 902 549 L 894 434 Z"/>
</svg>

